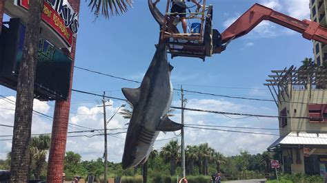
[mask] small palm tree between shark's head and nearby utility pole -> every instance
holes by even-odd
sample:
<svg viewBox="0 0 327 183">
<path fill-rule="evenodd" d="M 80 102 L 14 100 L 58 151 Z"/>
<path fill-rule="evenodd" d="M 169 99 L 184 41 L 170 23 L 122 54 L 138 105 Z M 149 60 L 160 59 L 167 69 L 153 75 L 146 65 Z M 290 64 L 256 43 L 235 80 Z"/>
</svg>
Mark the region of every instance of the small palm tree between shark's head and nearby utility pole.
<svg viewBox="0 0 327 183">
<path fill-rule="evenodd" d="M 160 155 L 165 158 L 165 160 L 170 161 L 170 175 L 175 175 L 176 173 L 176 162 L 179 155 L 180 145 L 177 140 L 171 140 L 166 146 L 161 149 Z"/>
</svg>

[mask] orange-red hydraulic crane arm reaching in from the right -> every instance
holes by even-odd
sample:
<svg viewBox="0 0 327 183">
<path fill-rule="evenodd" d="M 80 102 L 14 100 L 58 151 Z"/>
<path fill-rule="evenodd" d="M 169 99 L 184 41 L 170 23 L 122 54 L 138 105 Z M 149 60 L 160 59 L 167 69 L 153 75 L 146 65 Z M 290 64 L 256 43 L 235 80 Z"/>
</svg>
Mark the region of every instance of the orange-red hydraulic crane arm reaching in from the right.
<svg viewBox="0 0 327 183">
<path fill-rule="evenodd" d="M 221 33 L 222 43 L 228 43 L 232 39 L 237 39 L 240 36 L 248 34 L 248 32 L 264 20 L 273 21 L 286 28 L 295 30 L 301 33 L 305 39 L 313 39 L 327 44 L 327 28 L 321 27 L 319 23 L 306 19 L 299 21 L 286 14 L 267 8 L 266 6 L 261 6 L 258 3 L 242 14 L 239 19 Z M 221 51 L 221 47 L 217 47 L 214 53 L 220 53 Z"/>
</svg>

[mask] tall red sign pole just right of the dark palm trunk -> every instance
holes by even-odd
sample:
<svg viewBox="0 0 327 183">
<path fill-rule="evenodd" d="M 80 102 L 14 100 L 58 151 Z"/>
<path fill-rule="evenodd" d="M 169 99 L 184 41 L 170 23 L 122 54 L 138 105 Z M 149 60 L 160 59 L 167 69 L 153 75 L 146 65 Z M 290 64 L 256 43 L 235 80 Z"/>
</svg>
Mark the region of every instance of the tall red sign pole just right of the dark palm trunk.
<svg viewBox="0 0 327 183">
<path fill-rule="evenodd" d="M 68 0 L 72 9 L 79 14 L 80 0 Z M 48 173 L 46 182 L 63 182 L 63 165 L 65 160 L 68 120 L 70 111 L 70 98 L 72 95 L 72 76 L 74 73 L 75 50 L 77 35 L 72 39 L 72 48 L 67 54 L 72 58 L 70 68 L 70 89 L 68 99 L 57 100 L 54 107 L 54 118 L 52 123 L 51 144 L 48 160 Z"/>
</svg>

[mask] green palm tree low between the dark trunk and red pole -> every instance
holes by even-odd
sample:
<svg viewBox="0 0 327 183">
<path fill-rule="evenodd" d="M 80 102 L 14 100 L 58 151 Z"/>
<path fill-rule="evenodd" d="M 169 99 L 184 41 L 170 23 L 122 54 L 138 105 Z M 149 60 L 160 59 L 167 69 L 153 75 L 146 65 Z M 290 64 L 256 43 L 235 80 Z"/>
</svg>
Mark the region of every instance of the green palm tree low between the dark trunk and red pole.
<svg viewBox="0 0 327 183">
<path fill-rule="evenodd" d="M 34 136 L 31 138 L 30 143 L 30 155 L 32 160 L 34 160 L 35 171 L 34 177 L 35 179 L 39 179 L 41 175 L 41 169 L 46 162 L 46 154 L 50 148 L 50 136 Z"/>
</svg>

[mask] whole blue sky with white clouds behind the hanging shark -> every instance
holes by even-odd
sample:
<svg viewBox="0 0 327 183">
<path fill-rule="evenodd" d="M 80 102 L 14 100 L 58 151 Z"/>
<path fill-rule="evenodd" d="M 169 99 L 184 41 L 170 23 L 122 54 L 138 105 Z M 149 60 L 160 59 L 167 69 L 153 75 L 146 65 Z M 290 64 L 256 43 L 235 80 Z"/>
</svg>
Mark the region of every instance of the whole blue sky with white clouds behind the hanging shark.
<svg viewBox="0 0 327 183">
<path fill-rule="evenodd" d="M 262 3 L 284 14 L 290 14 L 297 19 L 309 19 L 310 10 L 308 0 L 209 0 L 212 3 L 214 16 L 213 27 L 223 32 L 230 22 L 248 10 L 254 3 Z M 164 0 L 160 8 L 163 9 Z M 135 1 L 133 8 L 120 17 L 111 19 L 95 17 L 90 13 L 87 4 L 81 1 L 79 16 L 79 32 L 77 34 L 77 52 L 75 65 L 98 72 L 112 74 L 132 80 L 141 80 L 155 53 L 155 43 L 158 41 L 159 27 L 152 18 L 146 0 Z M 313 57 L 313 44 L 303 39 L 301 34 L 282 28 L 268 21 L 261 23 L 250 34 L 232 41 L 226 51 L 206 58 L 202 62 L 198 58 L 169 59 L 175 67 L 172 71 L 172 84 L 175 88 L 183 85 L 184 89 L 212 94 L 225 94 L 230 96 L 248 96 L 252 98 L 269 98 L 271 95 L 265 83 L 270 70 L 284 69 L 295 65 L 299 67 L 305 57 Z M 168 55 L 168 58 L 170 56 Z M 83 91 L 102 94 L 106 91 L 108 96 L 123 98 L 121 87 L 139 87 L 137 83 L 130 83 L 106 76 L 92 74 L 75 69 L 72 87 Z M 16 92 L 0 86 L 0 94 L 10 96 L 12 99 Z M 179 93 L 174 93 L 172 105 L 180 105 Z M 185 94 L 188 99 L 186 107 L 199 109 L 212 109 L 217 111 L 233 111 L 251 114 L 277 115 L 275 103 L 255 102 L 252 100 L 239 100 L 204 96 L 198 94 Z M 95 107 L 100 101 L 99 97 L 88 96 L 72 92 L 72 107 L 70 122 L 86 127 L 101 128 L 101 108 Z M 3 106 L 13 108 L 0 99 Z M 121 105 L 121 101 L 110 101 L 108 115 Z M 54 102 L 34 105 L 40 111 L 52 116 Z M 13 108 L 14 109 L 14 108 Z M 1 115 L 2 114 L 2 115 Z M 78 115 L 88 114 L 88 115 Z M 175 120 L 180 121 L 180 111 L 175 111 Z M 236 116 L 237 117 L 237 116 Z M 0 120 L 3 123 L 13 124 L 13 111 L 0 109 Z M 126 127 L 121 116 L 115 116 L 109 127 Z M 186 123 L 215 124 L 239 127 L 271 127 L 277 128 L 277 119 L 246 118 L 234 120 L 213 114 L 186 112 Z M 36 125 L 34 125 L 36 124 Z M 35 116 L 33 118 L 33 133 L 46 133 L 51 131 L 51 120 Z M 70 128 L 70 131 L 77 129 Z M 262 131 L 267 132 L 267 131 Z M 0 127 L 0 135 L 11 134 L 12 131 Z M 250 153 L 260 153 L 268 147 L 276 136 L 244 135 L 243 133 L 227 133 L 192 129 L 186 130 L 186 144 L 199 144 L 208 142 L 210 146 L 226 155 L 232 155 L 239 149 L 246 149 Z M 277 133 L 268 131 L 268 133 Z M 124 138 L 124 134 L 119 138 Z M 158 139 L 174 137 L 174 133 L 161 134 Z M 77 151 L 83 159 L 95 159 L 103 153 L 103 137 L 94 138 L 68 138 L 67 150 Z M 230 143 L 232 140 L 233 143 Z M 168 141 L 158 141 L 156 149 Z M 10 151 L 10 141 L 0 141 L 0 159 Z M 123 140 L 112 138 L 109 140 L 109 160 L 119 162 L 122 155 Z"/>
</svg>

